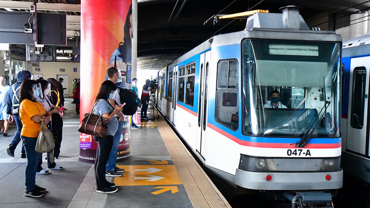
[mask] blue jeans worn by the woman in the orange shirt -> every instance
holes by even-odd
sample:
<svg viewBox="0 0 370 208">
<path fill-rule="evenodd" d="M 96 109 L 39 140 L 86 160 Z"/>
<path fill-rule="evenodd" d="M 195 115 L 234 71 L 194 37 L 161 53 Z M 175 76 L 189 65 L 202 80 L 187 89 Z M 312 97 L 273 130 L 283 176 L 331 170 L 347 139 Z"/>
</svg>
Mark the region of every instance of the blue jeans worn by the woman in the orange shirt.
<svg viewBox="0 0 370 208">
<path fill-rule="evenodd" d="M 26 175 L 26 191 L 31 191 L 36 186 L 37 164 L 42 154 L 35 151 L 37 137 L 21 136 L 24 149 L 26 150 L 27 165 L 24 171 Z"/>
</svg>

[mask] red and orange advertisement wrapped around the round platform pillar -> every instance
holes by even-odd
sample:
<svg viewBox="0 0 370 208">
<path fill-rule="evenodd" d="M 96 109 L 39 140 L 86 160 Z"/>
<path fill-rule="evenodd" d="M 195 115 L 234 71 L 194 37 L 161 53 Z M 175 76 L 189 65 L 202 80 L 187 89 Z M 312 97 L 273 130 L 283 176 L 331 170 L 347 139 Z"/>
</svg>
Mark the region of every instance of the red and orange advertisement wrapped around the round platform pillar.
<svg viewBox="0 0 370 208">
<path fill-rule="evenodd" d="M 81 1 L 80 121 L 91 112 L 108 68 L 118 70 L 117 87 L 131 88 L 132 36 L 132 0 Z M 117 162 L 130 155 L 130 120 L 124 116 Z M 94 137 L 80 133 L 80 161 L 94 162 L 96 150 Z"/>
</svg>

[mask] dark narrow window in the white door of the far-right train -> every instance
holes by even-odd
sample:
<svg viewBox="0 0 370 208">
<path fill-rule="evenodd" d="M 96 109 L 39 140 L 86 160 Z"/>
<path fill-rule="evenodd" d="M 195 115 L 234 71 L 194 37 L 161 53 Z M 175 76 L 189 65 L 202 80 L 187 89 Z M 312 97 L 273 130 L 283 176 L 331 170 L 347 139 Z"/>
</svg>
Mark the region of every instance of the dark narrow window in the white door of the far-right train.
<svg viewBox="0 0 370 208">
<path fill-rule="evenodd" d="M 353 70 L 351 127 L 362 129 L 366 99 L 366 68 L 356 67 Z"/>
</svg>

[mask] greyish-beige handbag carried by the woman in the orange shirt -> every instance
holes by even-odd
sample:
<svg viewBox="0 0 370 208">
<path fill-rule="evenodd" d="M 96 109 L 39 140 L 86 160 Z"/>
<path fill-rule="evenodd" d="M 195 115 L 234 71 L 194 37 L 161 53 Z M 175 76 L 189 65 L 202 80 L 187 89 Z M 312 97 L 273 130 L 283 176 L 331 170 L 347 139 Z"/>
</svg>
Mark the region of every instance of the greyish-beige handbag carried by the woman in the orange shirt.
<svg viewBox="0 0 370 208">
<path fill-rule="evenodd" d="M 41 121 L 40 133 L 38 133 L 35 151 L 38 153 L 50 152 L 50 162 L 54 162 L 54 137 L 50 130 L 44 125 L 44 121 Z"/>
</svg>

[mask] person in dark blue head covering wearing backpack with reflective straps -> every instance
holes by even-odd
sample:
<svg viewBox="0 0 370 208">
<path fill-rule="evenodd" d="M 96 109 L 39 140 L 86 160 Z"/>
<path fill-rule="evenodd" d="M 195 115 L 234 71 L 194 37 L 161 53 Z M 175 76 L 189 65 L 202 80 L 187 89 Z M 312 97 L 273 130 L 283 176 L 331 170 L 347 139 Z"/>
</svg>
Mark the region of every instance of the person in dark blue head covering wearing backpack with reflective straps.
<svg viewBox="0 0 370 208">
<path fill-rule="evenodd" d="M 26 70 L 22 70 L 17 73 L 17 82 L 11 85 L 8 93 L 6 113 L 10 115 L 9 120 L 14 120 L 16 122 L 17 131 L 14 134 L 13 140 L 10 142 L 9 147 L 6 149 L 7 154 L 10 157 L 14 157 L 14 150 L 16 150 L 17 145 L 21 141 L 21 130 L 22 123 L 19 117 L 19 97 L 20 97 L 20 87 L 24 80 L 29 80 L 31 78 L 31 73 Z M 22 145 L 21 158 L 26 158 L 26 152 Z"/>
</svg>

